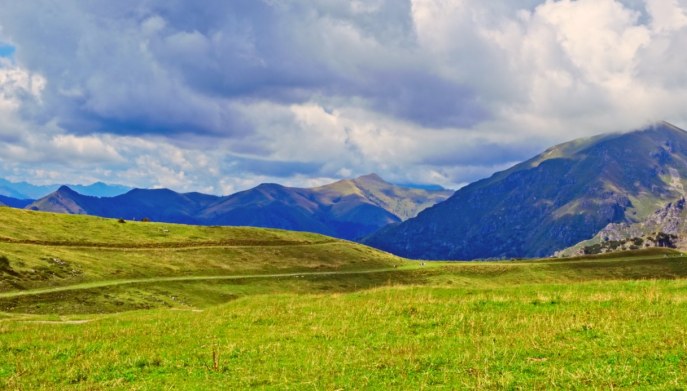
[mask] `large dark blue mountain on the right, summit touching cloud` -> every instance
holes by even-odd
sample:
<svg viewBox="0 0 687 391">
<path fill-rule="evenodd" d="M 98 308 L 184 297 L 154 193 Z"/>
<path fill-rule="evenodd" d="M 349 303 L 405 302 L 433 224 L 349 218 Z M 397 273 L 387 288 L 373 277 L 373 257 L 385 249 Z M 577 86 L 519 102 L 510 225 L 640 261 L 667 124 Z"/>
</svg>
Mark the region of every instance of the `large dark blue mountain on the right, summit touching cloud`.
<svg viewBox="0 0 687 391">
<path fill-rule="evenodd" d="M 575 140 L 458 190 L 367 244 L 414 258 L 547 256 L 684 194 L 687 133 L 668 123 Z"/>
</svg>

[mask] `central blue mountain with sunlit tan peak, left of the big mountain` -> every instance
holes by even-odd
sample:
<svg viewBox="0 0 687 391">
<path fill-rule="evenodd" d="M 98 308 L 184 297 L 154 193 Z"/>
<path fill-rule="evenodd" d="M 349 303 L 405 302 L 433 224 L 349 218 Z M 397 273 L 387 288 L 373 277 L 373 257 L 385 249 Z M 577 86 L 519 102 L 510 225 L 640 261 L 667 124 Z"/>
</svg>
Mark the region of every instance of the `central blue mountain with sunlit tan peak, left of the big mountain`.
<svg viewBox="0 0 687 391">
<path fill-rule="evenodd" d="M 264 184 L 211 205 L 202 218 L 218 225 L 284 228 L 356 240 L 450 194 L 399 187 L 375 174 L 312 189 Z"/>
</svg>

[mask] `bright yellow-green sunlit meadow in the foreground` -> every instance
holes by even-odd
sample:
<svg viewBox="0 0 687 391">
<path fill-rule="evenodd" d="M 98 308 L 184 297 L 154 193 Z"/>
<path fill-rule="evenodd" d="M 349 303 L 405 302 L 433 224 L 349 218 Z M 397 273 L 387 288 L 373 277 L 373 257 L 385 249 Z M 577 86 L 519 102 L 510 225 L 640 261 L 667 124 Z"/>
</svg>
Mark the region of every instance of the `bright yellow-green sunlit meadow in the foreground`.
<svg viewBox="0 0 687 391">
<path fill-rule="evenodd" d="M 430 282 L 4 321 L 0 378 L 26 389 L 677 388 L 685 299 L 684 281 Z"/>
</svg>

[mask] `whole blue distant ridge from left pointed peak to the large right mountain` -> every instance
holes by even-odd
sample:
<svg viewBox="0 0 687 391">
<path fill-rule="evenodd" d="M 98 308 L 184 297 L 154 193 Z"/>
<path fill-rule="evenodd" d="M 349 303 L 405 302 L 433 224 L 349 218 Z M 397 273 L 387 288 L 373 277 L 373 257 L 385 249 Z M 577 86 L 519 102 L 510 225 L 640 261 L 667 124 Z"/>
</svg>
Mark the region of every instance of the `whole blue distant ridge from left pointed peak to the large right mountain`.
<svg viewBox="0 0 687 391">
<path fill-rule="evenodd" d="M 356 240 L 413 217 L 452 193 L 403 188 L 370 174 L 310 189 L 262 184 L 225 197 L 167 189 L 133 189 L 115 197 L 91 197 L 62 186 L 27 209 L 184 224 L 282 228 Z"/>
</svg>

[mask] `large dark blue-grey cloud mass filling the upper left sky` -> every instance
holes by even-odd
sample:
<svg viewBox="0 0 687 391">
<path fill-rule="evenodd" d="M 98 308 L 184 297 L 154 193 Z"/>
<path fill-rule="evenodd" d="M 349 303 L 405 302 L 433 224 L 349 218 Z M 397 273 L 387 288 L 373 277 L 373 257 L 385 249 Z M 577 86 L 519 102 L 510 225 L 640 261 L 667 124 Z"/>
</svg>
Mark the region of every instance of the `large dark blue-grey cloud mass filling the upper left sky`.
<svg viewBox="0 0 687 391">
<path fill-rule="evenodd" d="M 241 137 L 231 102 L 322 94 L 425 126 L 471 124 L 484 111 L 455 81 L 408 71 L 418 67 L 409 1 L 3 5 L 18 61 L 49 81 L 46 105 L 27 113 L 71 132 Z"/>
</svg>

